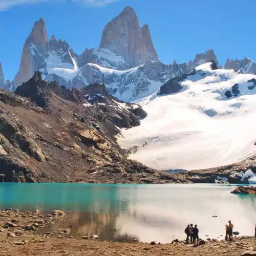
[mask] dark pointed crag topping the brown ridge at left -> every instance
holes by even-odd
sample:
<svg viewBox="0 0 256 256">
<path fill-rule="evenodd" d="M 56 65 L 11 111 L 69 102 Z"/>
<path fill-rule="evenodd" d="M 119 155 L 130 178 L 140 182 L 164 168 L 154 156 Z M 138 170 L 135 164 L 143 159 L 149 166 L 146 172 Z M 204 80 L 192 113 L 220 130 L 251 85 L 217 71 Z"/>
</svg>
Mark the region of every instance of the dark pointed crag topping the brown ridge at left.
<svg viewBox="0 0 256 256">
<path fill-rule="evenodd" d="M 49 101 L 51 90 L 48 83 L 42 80 L 42 74 L 36 71 L 31 79 L 16 89 L 15 94 L 30 98 L 31 101 L 44 108 Z"/>
</svg>

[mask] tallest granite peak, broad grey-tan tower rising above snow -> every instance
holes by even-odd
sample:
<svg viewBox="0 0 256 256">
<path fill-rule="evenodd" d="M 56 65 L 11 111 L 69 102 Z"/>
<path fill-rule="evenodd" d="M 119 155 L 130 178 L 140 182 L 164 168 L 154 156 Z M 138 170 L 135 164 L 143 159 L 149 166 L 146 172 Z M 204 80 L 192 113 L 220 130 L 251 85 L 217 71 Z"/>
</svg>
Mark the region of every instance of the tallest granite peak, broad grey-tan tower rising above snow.
<svg viewBox="0 0 256 256">
<path fill-rule="evenodd" d="M 126 6 L 117 17 L 105 26 L 99 48 L 109 49 L 120 55 L 130 67 L 136 67 L 148 60 L 156 59 L 158 57 L 154 53 L 149 30 L 145 28 L 143 30 L 147 38 L 146 41 L 136 12 L 133 8 Z M 152 57 L 150 57 L 151 55 Z"/>
</svg>

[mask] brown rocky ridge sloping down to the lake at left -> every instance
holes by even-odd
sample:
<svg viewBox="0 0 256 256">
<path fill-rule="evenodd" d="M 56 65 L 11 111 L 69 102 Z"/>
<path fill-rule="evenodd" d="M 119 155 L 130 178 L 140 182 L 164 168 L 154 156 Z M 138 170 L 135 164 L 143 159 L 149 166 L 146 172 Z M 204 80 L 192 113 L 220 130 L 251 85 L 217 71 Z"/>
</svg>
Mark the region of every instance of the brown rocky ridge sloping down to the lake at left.
<svg viewBox="0 0 256 256">
<path fill-rule="evenodd" d="M 0 90 L 0 180 L 161 183 L 168 175 L 133 160 L 116 143 L 146 116 L 101 84 L 69 90 L 40 72 L 15 94 Z"/>
</svg>

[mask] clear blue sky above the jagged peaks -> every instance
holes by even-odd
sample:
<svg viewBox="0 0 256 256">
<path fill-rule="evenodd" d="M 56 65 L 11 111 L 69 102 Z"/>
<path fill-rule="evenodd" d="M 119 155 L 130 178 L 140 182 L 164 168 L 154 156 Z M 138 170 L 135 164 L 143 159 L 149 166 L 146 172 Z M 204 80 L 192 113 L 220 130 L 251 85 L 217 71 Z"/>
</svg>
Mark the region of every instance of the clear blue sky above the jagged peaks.
<svg viewBox="0 0 256 256">
<path fill-rule="evenodd" d="M 81 54 L 97 48 L 104 26 L 125 6 L 148 24 L 162 62 L 188 62 L 214 49 L 218 61 L 256 60 L 255 0 L 0 0 L 0 61 L 6 79 L 18 71 L 22 49 L 36 20 L 48 38 L 66 40 Z"/>
</svg>

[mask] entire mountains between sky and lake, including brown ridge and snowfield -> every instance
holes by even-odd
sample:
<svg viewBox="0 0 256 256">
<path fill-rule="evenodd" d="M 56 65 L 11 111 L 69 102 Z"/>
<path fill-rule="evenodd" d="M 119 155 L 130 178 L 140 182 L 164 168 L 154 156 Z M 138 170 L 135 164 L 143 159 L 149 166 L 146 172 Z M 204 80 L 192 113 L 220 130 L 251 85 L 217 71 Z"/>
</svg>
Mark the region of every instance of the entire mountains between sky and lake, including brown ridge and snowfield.
<svg viewBox="0 0 256 256">
<path fill-rule="evenodd" d="M 0 63 L 0 88 L 0 180 L 244 183 L 256 172 L 256 63 L 223 68 L 212 49 L 162 63 L 131 7 L 80 55 L 39 19 L 13 81 Z"/>
</svg>

